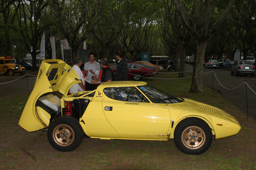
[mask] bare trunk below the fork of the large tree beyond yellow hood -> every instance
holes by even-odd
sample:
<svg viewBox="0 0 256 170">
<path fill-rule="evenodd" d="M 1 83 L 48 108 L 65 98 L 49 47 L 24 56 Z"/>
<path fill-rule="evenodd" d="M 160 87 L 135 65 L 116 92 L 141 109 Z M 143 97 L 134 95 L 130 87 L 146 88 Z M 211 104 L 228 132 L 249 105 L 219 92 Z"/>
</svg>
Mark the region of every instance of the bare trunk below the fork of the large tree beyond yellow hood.
<svg viewBox="0 0 256 170">
<path fill-rule="evenodd" d="M 196 54 L 194 58 L 192 84 L 189 91 L 190 93 L 203 92 L 203 58 L 206 46 L 207 40 L 203 42 L 196 41 Z"/>
</svg>

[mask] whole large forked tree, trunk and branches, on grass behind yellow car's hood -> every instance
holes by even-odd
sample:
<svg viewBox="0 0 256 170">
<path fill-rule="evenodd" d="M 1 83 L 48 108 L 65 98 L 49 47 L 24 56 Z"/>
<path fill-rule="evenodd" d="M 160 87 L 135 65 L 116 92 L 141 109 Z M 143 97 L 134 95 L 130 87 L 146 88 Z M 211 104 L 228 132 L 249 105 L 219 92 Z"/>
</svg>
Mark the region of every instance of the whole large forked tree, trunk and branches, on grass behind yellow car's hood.
<svg viewBox="0 0 256 170">
<path fill-rule="evenodd" d="M 181 0 L 173 0 L 179 11 L 182 22 L 194 39 L 196 44 L 196 52 L 194 57 L 194 67 L 190 93 L 203 92 L 203 58 L 207 42 L 211 35 L 217 30 L 218 26 L 223 22 L 236 0 L 230 0 L 222 11 L 217 11 L 216 7 L 220 0 L 194 0 L 191 1 L 191 10 L 187 12 L 185 4 Z M 225 1 L 226 2 L 226 1 Z M 222 3 L 225 5 L 225 3 Z M 219 12 L 219 13 L 217 13 Z M 218 17 L 213 17 L 214 15 Z"/>
</svg>

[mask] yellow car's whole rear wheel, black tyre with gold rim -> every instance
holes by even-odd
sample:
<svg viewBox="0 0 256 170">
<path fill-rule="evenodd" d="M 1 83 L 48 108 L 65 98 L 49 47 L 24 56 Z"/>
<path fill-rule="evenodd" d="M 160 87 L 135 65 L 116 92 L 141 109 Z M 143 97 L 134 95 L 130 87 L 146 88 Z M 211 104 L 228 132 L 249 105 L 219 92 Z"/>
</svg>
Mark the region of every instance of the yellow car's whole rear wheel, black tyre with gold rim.
<svg viewBox="0 0 256 170">
<path fill-rule="evenodd" d="M 47 130 L 49 143 L 58 151 L 73 151 L 83 141 L 82 127 L 71 116 L 59 117 L 50 123 Z"/>
</svg>

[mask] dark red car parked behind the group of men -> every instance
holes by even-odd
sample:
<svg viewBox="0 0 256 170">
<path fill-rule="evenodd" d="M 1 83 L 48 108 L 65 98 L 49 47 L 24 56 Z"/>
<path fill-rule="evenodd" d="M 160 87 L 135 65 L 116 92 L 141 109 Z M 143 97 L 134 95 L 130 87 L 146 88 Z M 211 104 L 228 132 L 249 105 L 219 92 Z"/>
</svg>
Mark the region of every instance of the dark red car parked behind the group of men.
<svg viewBox="0 0 256 170">
<path fill-rule="evenodd" d="M 133 79 L 133 80 L 141 80 L 144 77 L 151 77 L 155 75 L 155 72 L 153 69 L 144 67 L 141 65 L 137 65 L 135 63 L 127 63 L 128 67 L 128 79 Z M 116 68 L 111 68 L 112 71 L 115 74 Z"/>
</svg>

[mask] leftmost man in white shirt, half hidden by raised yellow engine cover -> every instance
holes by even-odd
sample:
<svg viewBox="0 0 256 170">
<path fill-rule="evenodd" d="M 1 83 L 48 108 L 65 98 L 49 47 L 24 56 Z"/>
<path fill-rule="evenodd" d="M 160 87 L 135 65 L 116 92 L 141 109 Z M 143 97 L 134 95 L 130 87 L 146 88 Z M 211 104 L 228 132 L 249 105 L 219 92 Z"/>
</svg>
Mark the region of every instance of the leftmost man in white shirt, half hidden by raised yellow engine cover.
<svg viewBox="0 0 256 170">
<path fill-rule="evenodd" d="M 80 70 L 81 65 L 82 65 L 82 59 L 79 57 L 75 58 L 74 66 L 72 68 L 75 70 L 81 82 L 76 83 L 72 87 L 70 87 L 69 93 L 77 93 L 78 91 L 85 91 L 85 79 L 82 74 L 82 71 Z"/>
</svg>

